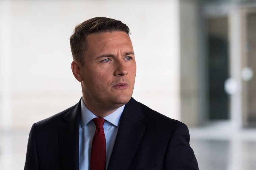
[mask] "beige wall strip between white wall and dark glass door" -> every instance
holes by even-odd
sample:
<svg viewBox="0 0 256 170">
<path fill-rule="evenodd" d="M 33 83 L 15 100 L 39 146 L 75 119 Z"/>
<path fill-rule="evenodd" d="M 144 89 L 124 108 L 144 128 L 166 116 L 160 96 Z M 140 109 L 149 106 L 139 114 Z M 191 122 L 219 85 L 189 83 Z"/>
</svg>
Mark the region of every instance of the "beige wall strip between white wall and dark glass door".
<svg viewBox="0 0 256 170">
<path fill-rule="evenodd" d="M 202 83 L 199 83 L 202 79 L 199 70 L 205 64 L 198 51 L 200 27 L 197 3 L 197 0 L 180 0 L 181 120 L 188 126 L 198 126 L 200 123 L 200 94 L 203 89 Z"/>
</svg>

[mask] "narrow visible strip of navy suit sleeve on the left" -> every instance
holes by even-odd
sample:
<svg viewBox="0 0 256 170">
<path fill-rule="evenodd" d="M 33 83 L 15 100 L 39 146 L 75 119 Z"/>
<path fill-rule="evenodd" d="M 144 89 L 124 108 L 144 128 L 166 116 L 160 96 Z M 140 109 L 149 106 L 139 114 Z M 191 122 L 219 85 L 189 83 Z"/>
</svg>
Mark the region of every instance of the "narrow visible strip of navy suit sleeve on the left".
<svg viewBox="0 0 256 170">
<path fill-rule="evenodd" d="M 35 123 L 33 124 L 28 139 L 27 155 L 24 170 L 39 170 L 37 149 L 35 141 Z"/>
</svg>

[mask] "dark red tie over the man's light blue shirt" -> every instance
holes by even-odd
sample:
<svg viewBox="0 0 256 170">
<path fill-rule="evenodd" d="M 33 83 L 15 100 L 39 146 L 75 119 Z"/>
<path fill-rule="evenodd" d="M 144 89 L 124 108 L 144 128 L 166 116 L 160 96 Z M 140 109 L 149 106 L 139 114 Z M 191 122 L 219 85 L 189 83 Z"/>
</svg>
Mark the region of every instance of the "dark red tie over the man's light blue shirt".
<svg viewBox="0 0 256 170">
<path fill-rule="evenodd" d="M 90 170 L 105 170 L 106 139 L 103 129 L 105 119 L 94 118 L 93 122 L 96 125 L 96 131 L 92 139 Z"/>
</svg>

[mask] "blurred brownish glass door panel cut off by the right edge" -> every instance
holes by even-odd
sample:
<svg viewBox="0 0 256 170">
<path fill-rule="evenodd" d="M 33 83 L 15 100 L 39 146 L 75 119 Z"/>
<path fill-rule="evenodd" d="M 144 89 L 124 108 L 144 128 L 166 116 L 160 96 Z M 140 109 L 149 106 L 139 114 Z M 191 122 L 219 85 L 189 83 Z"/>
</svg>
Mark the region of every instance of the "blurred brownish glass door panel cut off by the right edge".
<svg viewBox="0 0 256 170">
<path fill-rule="evenodd" d="M 256 7 L 243 11 L 243 123 L 245 127 L 256 127 Z"/>
</svg>

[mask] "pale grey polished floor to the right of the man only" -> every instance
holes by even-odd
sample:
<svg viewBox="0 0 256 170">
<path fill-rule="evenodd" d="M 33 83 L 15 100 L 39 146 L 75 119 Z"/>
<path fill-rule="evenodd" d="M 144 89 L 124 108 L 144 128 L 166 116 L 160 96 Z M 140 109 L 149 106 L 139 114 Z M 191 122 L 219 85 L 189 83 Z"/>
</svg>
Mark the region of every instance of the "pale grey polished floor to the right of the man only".
<svg viewBox="0 0 256 170">
<path fill-rule="evenodd" d="M 256 170 L 256 141 L 191 140 L 190 144 L 201 170 Z"/>
</svg>

